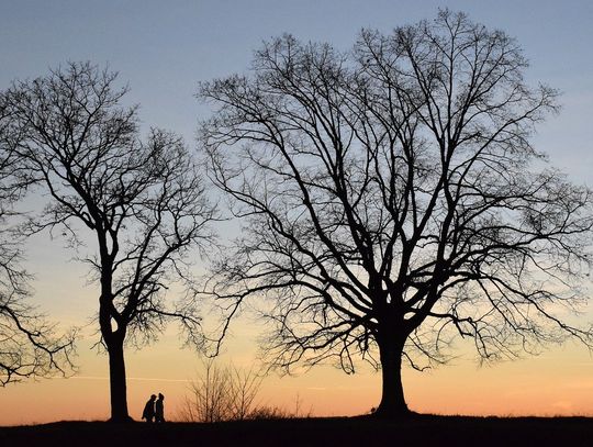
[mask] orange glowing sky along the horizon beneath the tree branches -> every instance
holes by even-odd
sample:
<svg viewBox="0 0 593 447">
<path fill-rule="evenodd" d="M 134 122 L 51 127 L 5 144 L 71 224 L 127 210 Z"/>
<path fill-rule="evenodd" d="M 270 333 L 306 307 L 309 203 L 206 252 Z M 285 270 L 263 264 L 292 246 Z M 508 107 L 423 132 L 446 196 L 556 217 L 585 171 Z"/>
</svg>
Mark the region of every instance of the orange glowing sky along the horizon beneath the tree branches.
<svg viewBox="0 0 593 447">
<path fill-rule="evenodd" d="M 166 417 L 179 420 L 189 381 L 195 380 L 200 358 L 171 348 L 175 337 L 127 355 L 130 414 L 139 420 L 149 394 L 165 394 Z M 230 344 L 221 365 L 249 365 L 243 344 Z M 109 417 L 107 357 L 80 354 L 83 367 L 69 379 L 49 379 L 0 389 L 0 425 L 40 424 L 63 420 L 104 421 Z M 83 360 L 83 361 L 82 361 Z M 404 370 L 411 410 L 462 415 L 593 415 L 593 360 L 585 349 L 567 345 L 539 357 L 477 367 L 458 360 L 428 372 Z M 380 399 L 380 375 L 368 367 L 347 376 L 320 366 L 295 377 L 270 375 L 257 402 L 300 415 L 365 414 Z M 10 409 L 10 410 L 8 410 Z"/>
</svg>

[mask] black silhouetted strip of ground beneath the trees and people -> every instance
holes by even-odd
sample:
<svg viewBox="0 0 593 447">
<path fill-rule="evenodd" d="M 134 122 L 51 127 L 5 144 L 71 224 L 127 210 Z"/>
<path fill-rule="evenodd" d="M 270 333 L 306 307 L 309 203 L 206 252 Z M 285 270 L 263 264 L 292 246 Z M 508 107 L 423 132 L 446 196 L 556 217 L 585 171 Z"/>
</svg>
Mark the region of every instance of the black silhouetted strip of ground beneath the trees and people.
<svg viewBox="0 0 593 447">
<path fill-rule="evenodd" d="M 1 427 L 0 446 L 592 446 L 589 417 L 418 415 L 246 421 L 220 424 L 58 422 Z"/>
</svg>

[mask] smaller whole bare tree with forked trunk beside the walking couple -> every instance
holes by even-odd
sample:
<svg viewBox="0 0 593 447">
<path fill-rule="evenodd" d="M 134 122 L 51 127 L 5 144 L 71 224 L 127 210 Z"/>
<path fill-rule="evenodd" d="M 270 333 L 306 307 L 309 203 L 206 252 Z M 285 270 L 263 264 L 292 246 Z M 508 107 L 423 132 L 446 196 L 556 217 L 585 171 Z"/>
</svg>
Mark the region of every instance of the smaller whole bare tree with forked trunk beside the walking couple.
<svg viewBox="0 0 593 447">
<path fill-rule="evenodd" d="M 126 421 L 124 342 L 152 342 L 177 320 L 188 342 L 203 343 L 195 301 L 167 305 L 166 291 L 191 279 L 184 259 L 213 242 L 215 208 L 180 137 L 152 130 L 141 141 L 136 108 L 121 105 L 127 89 L 115 80 L 107 69 L 71 63 L 14 82 L 5 102 L 23 172 L 52 198 L 29 232 L 58 227 L 77 253 L 96 248 L 85 260 L 100 286 L 111 420 Z"/>
</svg>

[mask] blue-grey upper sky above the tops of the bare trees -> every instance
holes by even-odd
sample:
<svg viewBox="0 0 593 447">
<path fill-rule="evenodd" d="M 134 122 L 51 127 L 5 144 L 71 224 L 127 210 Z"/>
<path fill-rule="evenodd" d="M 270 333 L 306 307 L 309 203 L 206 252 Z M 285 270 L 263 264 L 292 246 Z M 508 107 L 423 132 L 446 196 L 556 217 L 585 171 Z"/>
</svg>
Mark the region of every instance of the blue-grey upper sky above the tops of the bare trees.
<svg viewBox="0 0 593 447">
<path fill-rule="evenodd" d="M 515 36 L 532 63 L 527 75 L 563 92 L 562 114 L 536 142 L 579 180 L 592 157 L 593 2 L 588 0 L 0 0 L 0 88 L 43 75 L 66 60 L 110 64 L 128 82 L 146 125 L 193 143 L 208 109 L 192 97 L 197 82 L 245 71 L 262 40 L 289 32 L 303 41 L 348 48 L 361 27 L 383 32 L 438 8 Z M 583 164 L 586 160 L 586 167 Z"/>
</svg>

